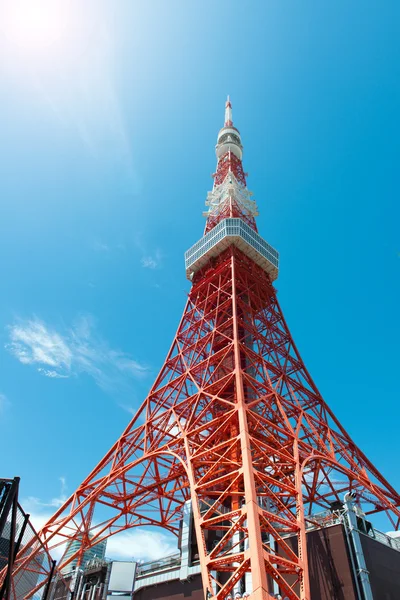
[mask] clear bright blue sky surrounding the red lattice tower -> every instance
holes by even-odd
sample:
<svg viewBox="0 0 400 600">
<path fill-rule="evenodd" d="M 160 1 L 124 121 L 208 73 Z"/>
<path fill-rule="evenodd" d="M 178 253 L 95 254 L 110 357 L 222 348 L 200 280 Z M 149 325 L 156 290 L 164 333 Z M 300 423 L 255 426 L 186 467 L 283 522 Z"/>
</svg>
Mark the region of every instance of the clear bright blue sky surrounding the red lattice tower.
<svg viewBox="0 0 400 600">
<path fill-rule="evenodd" d="M 1 475 L 42 522 L 144 399 L 229 93 L 294 339 L 399 488 L 399 3 L 38 0 L 36 29 L 20 4 L 0 4 Z"/>
</svg>

